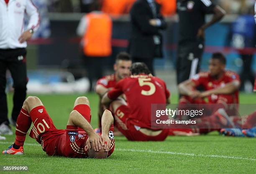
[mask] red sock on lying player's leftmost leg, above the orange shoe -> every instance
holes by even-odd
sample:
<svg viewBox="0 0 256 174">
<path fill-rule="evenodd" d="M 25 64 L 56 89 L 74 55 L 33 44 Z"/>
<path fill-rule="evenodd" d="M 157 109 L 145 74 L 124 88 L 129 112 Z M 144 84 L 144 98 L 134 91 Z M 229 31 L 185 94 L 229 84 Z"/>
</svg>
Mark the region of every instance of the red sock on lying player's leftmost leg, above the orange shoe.
<svg viewBox="0 0 256 174">
<path fill-rule="evenodd" d="M 20 114 L 17 119 L 16 123 L 16 131 L 15 131 L 15 144 L 18 146 L 23 146 L 25 139 L 26 139 L 26 134 L 28 132 L 28 129 L 31 126 L 31 118 L 28 114 L 28 112 L 21 108 Z"/>
</svg>

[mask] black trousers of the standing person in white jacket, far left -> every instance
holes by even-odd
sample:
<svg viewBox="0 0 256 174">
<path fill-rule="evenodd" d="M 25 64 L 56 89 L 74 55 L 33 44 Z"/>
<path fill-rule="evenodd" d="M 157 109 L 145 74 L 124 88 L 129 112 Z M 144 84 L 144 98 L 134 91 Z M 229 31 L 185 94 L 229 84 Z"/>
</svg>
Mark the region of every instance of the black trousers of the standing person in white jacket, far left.
<svg viewBox="0 0 256 174">
<path fill-rule="evenodd" d="M 12 119 L 16 122 L 20 109 L 26 99 L 26 85 L 28 82 L 26 68 L 26 49 L 0 49 L 0 124 L 8 121 L 8 109 L 6 100 L 6 70 L 10 70 L 13 78 L 13 111 Z"/>
</svg>

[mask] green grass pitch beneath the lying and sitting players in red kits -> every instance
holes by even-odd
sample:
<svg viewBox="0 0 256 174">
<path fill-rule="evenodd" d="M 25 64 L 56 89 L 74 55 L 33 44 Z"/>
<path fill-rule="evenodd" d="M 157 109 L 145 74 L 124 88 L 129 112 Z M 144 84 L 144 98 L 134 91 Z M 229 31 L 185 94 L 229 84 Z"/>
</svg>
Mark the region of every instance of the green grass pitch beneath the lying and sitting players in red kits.
<svg viewBox="0 0 256 174">
<path fill-rule="evenodd" d="M 56 127 L 64 129 L 74 99 L 79 95 L 37 96 L 44 103 Z M 96 94 L 86 96 L 90 99 L 92 125 L 95 128 L 99 100 Z M 256 95 L 241 94 L 240 100 L 241 103 L 253 104 L 256 103 Z M 177 95 L 172 96 L 172 103 L 177 103 Z M 8 104 L 11 110 L 12 94 L 8 94 Z M 6 137 L 5 141 L 0 141 L 1 151 L 15 139 L 14 135 Z M 222 137 L 217 132 L 198 137 L 168 137 L 164 142 L 128 142 L 125 137 L 115 137 L 115 151 L 108 159 L 48 157 L 40 144 L 30 137 L 26 138 L 24 152 L 21 156 L 1 154 L 0 166 L 28 166 L 29 173 L 42 174 L 256 172 L 256 139 Z"/>
</svg>

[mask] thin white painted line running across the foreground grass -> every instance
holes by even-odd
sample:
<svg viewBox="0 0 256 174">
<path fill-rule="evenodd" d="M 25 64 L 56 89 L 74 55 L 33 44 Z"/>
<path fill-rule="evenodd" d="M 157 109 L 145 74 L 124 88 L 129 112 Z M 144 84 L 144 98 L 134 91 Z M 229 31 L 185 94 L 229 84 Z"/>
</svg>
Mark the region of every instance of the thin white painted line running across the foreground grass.
<svg viewBox="0 0 256 174">
<path fill-rule="evenodd" d="M 13 144 L 13 142 L 1 142 L 0 144 Z M 24 145 L 28 146 L 41 146 L 40 144 L 34 143 L 25 143 Z M 224 156 L 224 155 L 204 155 L 204 154 L 188 154 L 188 153 L 180 153 L 180 152 L 169 152 L 169 151 L 152 151 L 152 150 L 136 150 L 136 149 L 120 149 L 115 148 L 116 151 L 124 151 L 124 152 L 146 152 L 153 154 L 173 154 L 173 155 L 184 155 L 184 156 L 192 156 L 192 157 L 210 157 L 210 158 L 227 158 L 227 159 L 242 159 L 242 160 L 251 160 L 256 161 L 255 158 L 243 158 L 243 157 L 232 157 L 232 156 Z"/>
</svg>

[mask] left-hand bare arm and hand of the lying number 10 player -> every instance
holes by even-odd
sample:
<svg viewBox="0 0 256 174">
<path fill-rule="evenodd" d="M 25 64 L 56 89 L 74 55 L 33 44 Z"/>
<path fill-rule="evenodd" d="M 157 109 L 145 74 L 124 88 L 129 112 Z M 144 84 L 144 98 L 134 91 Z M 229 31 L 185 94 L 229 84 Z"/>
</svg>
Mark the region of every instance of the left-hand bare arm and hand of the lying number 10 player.
<svg viewBox="0 0 256 174">
<path fill-rule="evenodd" d="M 92 143 L 92 148 L 95 151 L 99 151 L 101 146 L 104 145 L 100 136 L 94 132 L 91 124 L 87 122 L 87 120 L 76 110 L 73 110 L 70 113 L 67 125 L 77 126 L 84 129 L 84 131 L 89 135 L 89 138 L 86 141 L 87 147 L 89 149 L 91 149 L 90 143 Z"/>
</svg>

